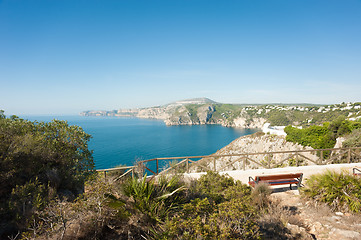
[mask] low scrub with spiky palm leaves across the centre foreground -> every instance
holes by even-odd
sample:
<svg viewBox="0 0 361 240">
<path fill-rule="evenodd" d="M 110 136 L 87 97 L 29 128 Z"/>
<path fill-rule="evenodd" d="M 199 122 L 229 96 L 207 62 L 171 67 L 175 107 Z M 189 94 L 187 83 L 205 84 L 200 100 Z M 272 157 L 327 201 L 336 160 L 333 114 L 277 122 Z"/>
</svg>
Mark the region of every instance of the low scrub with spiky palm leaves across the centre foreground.
<svg viewBox="0 0 361 240">
<path fill-rule="evenodd" d="M 178 176 L 114 183 L 95 177 L 74 201 L 35 211 L 22 239 L 287 239 L 285 219 L 271 216 L 270 191 L 254 191 L 208 172 L 198 181 Z M 273 211 L 273 210 L 272 210 Z M 271 212 L 272 212 L 271 211 Z M 267 216 L 267 219 L 264 219 Z M 29 219 L 30 220 L 30 219 Z M 14 234 L 15 235 L 15 234 Z"/>
</svg>

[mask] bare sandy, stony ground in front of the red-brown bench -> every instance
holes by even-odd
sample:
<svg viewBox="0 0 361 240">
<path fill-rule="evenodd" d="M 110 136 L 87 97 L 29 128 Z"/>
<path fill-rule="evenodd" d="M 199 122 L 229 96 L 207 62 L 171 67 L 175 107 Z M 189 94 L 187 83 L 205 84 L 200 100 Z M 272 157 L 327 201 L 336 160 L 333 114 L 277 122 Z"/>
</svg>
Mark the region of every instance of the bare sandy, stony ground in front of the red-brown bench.
<svg viewBox="0 0 361 240">
<path fill-rule="evenodd" d="M 271 199 L 292 212 L 286 223 L 292 232 L 305 232 L 307 239 L 361 239 L 361 214 L 332 212 L 301 198 L 297 189 L 276 188 Z"/>
</svg>

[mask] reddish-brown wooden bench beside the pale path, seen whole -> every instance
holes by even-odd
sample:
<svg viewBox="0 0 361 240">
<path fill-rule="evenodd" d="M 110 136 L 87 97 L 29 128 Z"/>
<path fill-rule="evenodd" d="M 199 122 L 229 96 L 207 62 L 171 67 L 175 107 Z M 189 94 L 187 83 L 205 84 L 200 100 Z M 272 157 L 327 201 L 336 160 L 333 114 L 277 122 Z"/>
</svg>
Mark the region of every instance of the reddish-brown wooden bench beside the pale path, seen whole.
<svg viewBox="0 0 361 240">
<path fill-rule="evenodd" d="M 285 185 L 289 184 L 292 189 L 292 184 L 296 184 L 299 188 L 301 186 L 303 173 L 287 173 L 287 174 L 276 174 L 276 175 L 262 175 L 255 176 L 253 179 L 249 177 L 248 184 L 255 187 L 258 183 L 264 182 L 269 185 Z"/>
</svg>

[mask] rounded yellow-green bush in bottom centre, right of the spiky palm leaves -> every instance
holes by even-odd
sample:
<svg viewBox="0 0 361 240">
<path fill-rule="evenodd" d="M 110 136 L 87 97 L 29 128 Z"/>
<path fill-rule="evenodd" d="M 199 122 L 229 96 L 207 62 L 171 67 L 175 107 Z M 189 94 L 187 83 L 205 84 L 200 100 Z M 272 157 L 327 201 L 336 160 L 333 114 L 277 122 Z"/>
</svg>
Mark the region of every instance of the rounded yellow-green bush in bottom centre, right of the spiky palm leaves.
<svg viewBox="0 0 361 240">
<path fill-rule="evenodd" d="M 258 210 L 251 188 L 207 172 L 190 187 L 188 203 L 169 217 L 155 239 L 258 239 Z"/>
</svg>

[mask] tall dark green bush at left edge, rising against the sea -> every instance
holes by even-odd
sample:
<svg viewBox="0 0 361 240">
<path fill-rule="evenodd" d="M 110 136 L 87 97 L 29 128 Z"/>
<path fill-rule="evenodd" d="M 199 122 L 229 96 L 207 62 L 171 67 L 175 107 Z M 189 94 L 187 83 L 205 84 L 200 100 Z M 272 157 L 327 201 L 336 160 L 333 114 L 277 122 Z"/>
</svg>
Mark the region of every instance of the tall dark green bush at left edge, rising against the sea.
<svg viewBox="0 0 361 240">
<path fill-rule="evenodd" d="M 65 121 L 31 122 L 0 112 L 0 236 L 27 227 L 55 198 L 74 198 L 94 167 L 90 135 Z"/>
</svg>

